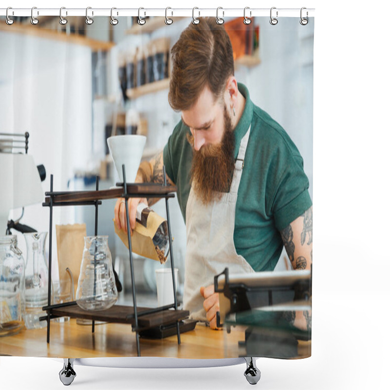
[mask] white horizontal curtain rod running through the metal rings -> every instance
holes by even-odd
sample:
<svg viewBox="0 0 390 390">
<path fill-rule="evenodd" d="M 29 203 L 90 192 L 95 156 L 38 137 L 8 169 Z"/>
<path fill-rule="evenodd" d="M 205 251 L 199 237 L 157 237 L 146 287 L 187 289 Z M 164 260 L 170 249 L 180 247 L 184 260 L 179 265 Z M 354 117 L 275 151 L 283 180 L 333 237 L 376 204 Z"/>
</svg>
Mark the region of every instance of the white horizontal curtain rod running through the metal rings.
<svg viewBox="0 0 390 390">
<path fill-rule="evenodd" d="M 65 16 L 86 16 L 88 13 L 89 17 L 95 16 L 111 16 L 111 12 L 113 12 L 113 16 L 115 17 L 125 17 L 125 16 L 141 16 L 145 18 L 147 16 L 168 16 L 173 17 L 193 17 L 196 18 L 210 16 L 215 17 L 217 14 L 216 8 L 114 8 L 113 11 L 111 8 L 62 8 L 61 15 Z M 33 16 L 35 18 L 39 18 L 39 16 L 59 16 L 60 11 L 59 8 L 12 8 L 8 9 L 8 16 Z M 245 7 L 245 16 L 247 18 L 255 17 L 255 16 L 268 16 L 270 17 L 271 9 L 270 8 L 250 8 Z M 276 17 L 295 17 L 299 18 L 301 16 L 300 8 L 276 8 L 272 9 L 273 16 Z M 0 16 L 7 15 L 7 8 L 0 8 Z M 244 8 L 223 8 L 219 7 L 218 15 L 221 18 L 228 17 L 244 17 Z M 303 17 L 313 17 L 314 16 L 314 8 L 304 8 L 303 9 Z"/>
</svg>

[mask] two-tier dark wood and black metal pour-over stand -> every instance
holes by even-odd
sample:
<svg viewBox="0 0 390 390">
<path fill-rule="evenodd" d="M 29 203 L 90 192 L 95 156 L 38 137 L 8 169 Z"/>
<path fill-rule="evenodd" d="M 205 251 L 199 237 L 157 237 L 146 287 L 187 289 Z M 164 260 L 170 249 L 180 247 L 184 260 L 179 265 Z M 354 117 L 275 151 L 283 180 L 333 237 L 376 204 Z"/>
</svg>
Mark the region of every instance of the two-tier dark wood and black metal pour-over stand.
<svg viewBox="0 0 390 390">
<path fill-rule="evenodd" d="M 126 181 L 125 166 L 122 165 L 122 172 L 124 181 Z M 52 318 L 61 316 L 70 316 L 76 318 L 84 318 L 92 320 L 92 332 L 95 332 L 95 321 L 107 321 L 118 323 L 129 323 L 133 325 L 133 331 L 136 332 L 137 355 L 140 356 L 139 337 L 150 334 L 159 334 L 165 329 L 165 334 L 175 331 L 177 335 L 177 343 L 180 344 L 180 328 L 187 331 L 191 328 L 188 324 L 184 324 L 182 320 L 187 318 L 190 314 L 188 311 L 178 310 L 178 303 L 176 298 L 176 283 L 174 279 L 175 262 L 172 250 L 172 234 L 171 224 L 169 218 L 168 199 L 175 196 L 176 187 L 167 184 L 165 167 L 163 167 L 164 184 L 153 183 L 117 183 L 116 188 L 110 190 L 99 191 L 99 180 L 96 178 L 96 191 L 67 191 L 55 192 L 53 191 L 53 175 L 50 176 L 50 192 L 46 192 L 45 202 L 43 206 L 50 208 L 50 228 L 49 228 L 49 286 L 51 285 L 51 270 L 52 270 L 52 240 L 53 240 L 53 209 L 55 206 L 95 206 L 95 235 L 98 235 L 98 205 L 101 204 L 102 199 L 113 199 L 124 197 L 128 200 L 131 197 L 156 197 L 165 198 L 166 212 L 167 212 L 167 228 L 168 228 L 168 242 L 171 256 L 171 271 L 173 278 L 173 295 L 174 303 L 157 308 L 139 308 L 137 307 L 136 287 L 134 278 L 134 263 L 130 237 L 130 221 L 127 218 L 127 238 L 129 242 L 129 260 L 131 271 L 131 284 L 133 295 L 133 306 L 114 305 L 110 309 L 103 311 L 86 311 L 79 308 L 76 302 L 65 302 L 57 305 L 48 305 L 42 308 L 46 311 L 46 315 L 40 317 L 40 320 L 47 321 L 46 340 L 50 342 L 50 320 Z M 128 210 L 128 203 L 125 202 L 126 213 Z M 51 290 L 47 292 L 47 302 L 51 302 Z M 170 310 L 174 309 L 174 310 Z M 190 324 L 191 325 L 191 324 Z M 195 326 L 195 324 L 192 324 Z M 142 332 L 142 334 L 141 334 Z"/>
</svg>

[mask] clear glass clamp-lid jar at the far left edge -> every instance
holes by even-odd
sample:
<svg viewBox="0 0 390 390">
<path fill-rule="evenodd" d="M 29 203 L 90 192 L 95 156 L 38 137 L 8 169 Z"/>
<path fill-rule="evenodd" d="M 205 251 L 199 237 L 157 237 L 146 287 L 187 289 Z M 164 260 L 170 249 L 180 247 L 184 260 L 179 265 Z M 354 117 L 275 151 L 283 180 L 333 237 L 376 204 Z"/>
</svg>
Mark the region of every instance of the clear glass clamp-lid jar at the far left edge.
<svg viewBox="0 0 390 390">
<path fill-rule="evenodd" d="M 16 235 L 0 237 L 0 336 L 24 326 L 24 259 Z"/>
</svg>

